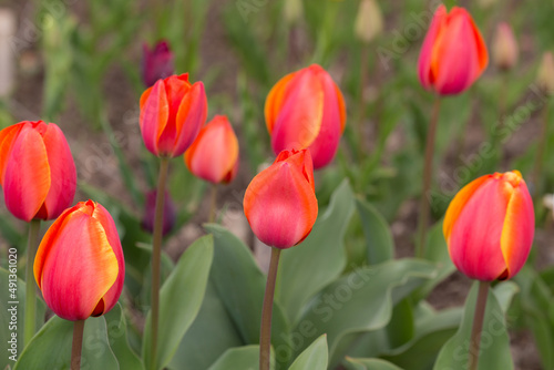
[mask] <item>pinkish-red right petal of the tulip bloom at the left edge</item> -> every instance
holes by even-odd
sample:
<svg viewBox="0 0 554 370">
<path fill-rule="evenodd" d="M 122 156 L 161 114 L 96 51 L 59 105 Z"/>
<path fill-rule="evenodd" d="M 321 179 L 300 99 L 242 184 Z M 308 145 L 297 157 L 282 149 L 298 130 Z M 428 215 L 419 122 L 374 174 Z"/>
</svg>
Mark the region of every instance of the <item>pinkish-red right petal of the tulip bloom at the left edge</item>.
<svg viewBox="0 0 554 370">
<path fill-rule="evenodd" d="M 65 136 L 58 125 L 49 124 L 42 140 L 47 147 L 51 184 L 44 201 L 47 215 L 41 218 L 52 219 L 73 203 L 76 169 Z"/>
</svg>

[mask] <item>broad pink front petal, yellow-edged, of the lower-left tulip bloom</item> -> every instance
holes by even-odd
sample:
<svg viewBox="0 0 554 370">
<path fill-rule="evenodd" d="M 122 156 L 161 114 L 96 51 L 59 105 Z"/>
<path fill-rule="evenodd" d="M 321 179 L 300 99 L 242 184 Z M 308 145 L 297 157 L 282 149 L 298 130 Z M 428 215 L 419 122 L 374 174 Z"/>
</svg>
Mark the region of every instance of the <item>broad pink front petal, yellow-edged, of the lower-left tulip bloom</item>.
<svg viewBox="0 0 554 370">
<path fill-rule="evenodd" d="M 58 316 L 84 320 L 115 282 L 117 258 L 99 220 L 78 210 L 62 222 L 55 239 L 48 238 L 39 247 L 49 249 L 41 256 L 40 286 L 44 301 Z"/>
</svg>

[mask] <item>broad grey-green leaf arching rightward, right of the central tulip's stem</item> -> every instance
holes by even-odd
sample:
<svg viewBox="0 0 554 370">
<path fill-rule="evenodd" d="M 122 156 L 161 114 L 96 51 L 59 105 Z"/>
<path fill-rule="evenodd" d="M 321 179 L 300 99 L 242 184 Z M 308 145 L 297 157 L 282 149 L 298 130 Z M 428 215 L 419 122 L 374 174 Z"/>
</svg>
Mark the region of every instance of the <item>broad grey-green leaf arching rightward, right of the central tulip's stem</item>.
<svg viewBox="0 0 554 370">
<path fill-rule="evenodd" d="M 401 259 L 342 276 L 311 300 L 293 332 L 295 351 L 304 350 L 310 338 L 327 333 L 335 364 L 359 333 L 383 328 L 393 306 L 434 274 L 427 261 Z"/>
</svg>

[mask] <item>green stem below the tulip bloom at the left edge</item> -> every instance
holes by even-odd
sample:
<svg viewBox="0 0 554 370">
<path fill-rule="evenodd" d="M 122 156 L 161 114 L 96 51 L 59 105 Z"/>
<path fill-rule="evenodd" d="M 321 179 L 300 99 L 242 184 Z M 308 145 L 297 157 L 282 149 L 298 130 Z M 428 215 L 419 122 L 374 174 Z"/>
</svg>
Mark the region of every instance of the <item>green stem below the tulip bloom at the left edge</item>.
<svg viewBox="0 0 554 370">
<path fill-rule="evenodd" d="M 23 323 L 23 345 L 27 347 L 34 337 L 34 323 L 37 316 L 37 284 L 34 282 L 34 255 L 39 246 L 40 219 L 31 219 L 29 223 L 29 240 L 27 246 L 27 270 L 25 270 L 25 321 Z"/>
</svg>

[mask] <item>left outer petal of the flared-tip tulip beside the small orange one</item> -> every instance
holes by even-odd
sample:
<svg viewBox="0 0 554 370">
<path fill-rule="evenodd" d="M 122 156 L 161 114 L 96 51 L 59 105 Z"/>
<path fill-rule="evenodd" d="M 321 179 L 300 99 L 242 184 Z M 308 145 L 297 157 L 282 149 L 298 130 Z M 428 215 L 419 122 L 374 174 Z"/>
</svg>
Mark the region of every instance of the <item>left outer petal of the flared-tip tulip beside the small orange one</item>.
<svg viewBox="0 0 554 370">
<path fill-rule="evenodd" d="M 141 133 L 146 148 L 157 155 L 157 141 L 170 117 L 170 103 L 165 92 L 164 81 L 158 80 L 141 96 Z"/>
</svg>

